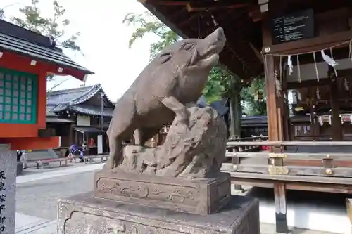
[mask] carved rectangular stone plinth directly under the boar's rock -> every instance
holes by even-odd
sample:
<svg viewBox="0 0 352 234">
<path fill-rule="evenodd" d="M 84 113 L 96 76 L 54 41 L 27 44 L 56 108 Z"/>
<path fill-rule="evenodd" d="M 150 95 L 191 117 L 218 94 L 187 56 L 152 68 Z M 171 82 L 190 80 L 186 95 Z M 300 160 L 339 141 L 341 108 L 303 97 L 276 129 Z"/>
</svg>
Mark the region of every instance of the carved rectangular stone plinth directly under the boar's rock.
<svg viewBox="0 0 352 234">
<path fill-rule="evenodd" d="M 98 171 L 94 196 L 193 214 L 217 212 L 230 200 L 230 174 L 187 180 L 126 172 Z"/>
</svg>

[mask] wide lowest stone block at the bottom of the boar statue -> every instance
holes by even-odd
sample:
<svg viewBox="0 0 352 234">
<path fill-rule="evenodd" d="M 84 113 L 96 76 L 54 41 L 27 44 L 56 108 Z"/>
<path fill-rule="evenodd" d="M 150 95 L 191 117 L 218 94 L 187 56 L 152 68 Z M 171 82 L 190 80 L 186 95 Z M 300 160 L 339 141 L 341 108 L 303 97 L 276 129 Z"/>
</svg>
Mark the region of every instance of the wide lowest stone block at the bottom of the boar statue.
<svg viewBox="0 0 352 234">
<path fill-rule="evenodd" d="M 259 203 L 232 195 L 206 216 L 76 195 L 58 202 L 57 234 L 259 234 Z"/>
</svg>

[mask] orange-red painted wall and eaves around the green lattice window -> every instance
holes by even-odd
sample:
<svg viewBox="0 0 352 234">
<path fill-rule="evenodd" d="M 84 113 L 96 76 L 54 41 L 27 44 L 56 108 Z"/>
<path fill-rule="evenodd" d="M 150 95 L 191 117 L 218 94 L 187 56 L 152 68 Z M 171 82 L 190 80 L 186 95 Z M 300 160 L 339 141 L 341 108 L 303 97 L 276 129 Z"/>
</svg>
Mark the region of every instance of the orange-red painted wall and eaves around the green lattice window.
<svg viewBox="0 0 352 234">
<path fill-rule="evenodd" d="M 38 75 L 37 123 L 36 124 L 0 124 L 0 143 L 10 143 L 13 149 L 40 149 L 58 146 L 58 138 L 38 138 L 38 130 L 46 128 L 46 74 L 57 74 L 62 66 L 37 61 L 30 65 L 32 58 L 7 51 L 0 58 L 0 67 Z M 83 72 L 63 67 L 62 75 L 69 74 L 83 79 Z"/>
</svg>

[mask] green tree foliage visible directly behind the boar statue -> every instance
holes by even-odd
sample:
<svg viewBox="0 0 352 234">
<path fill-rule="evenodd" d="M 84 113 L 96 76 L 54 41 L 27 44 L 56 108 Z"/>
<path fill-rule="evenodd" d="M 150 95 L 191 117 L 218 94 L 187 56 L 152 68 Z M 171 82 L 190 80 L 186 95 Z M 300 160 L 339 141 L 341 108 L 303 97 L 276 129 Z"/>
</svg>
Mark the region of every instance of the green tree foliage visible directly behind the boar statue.
<svg viewBox="0 0 352 234">
<path fill-rule="evenodd" d="M 132 33 L 129 41 L 129 46 L 134 44 L 138 39 L 142 39 L 146 34 L 153 33 L 159 37 L 158 41 L 153 42 L 150 45 L 150 59 L 153 59 L 165 46 L 175 43 L 181 38 L 169 27 L 167 27 L 163 22 L 158 20 L 149 11 L 142 14 L 128 13 L 125 15 L 123 23 L 127 25 L 132 25 L 136 27 L 136 30 Z M 263 88 L 263 82 L 258 79 L 257 82 L 253 82 L 250 87 L 244 87 L 241 89 L 242 105 L 247 115 L 263 115 L 266 111 L 265 100 L 256 101 L 253 98 L 253 90 L 257 91 L 256 87 L 261 90 Z M 234 85 L 241 85 L 239 78 L 235 77 L 233 74 L 223 69 L 220 66 L 214 67 L 211 70 L 208 83 L 203 90 L 203 96 L 206 97 L 208 103 L 213 103 L 215 100 L 220 100 L 221 98 L 227 97 L 231 98 L 233 95 Z M 265 107 L 264 109 L 262 107 Z M 259 108 L 259 109 L 257 109 Z M 263 111 L 264 110 L 264 111 Z"/>
</svg>

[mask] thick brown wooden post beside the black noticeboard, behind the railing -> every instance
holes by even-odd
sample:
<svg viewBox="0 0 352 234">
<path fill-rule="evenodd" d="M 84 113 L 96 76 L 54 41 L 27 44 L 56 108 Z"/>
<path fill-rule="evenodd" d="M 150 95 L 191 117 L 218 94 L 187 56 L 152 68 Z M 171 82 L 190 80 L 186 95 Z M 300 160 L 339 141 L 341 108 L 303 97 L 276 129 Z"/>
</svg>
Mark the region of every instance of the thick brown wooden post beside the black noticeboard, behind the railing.
<svg viewBox="0 0 352 234">
<path fill-rule="evenodd" d="M 272 46 L 272 32 L 270 30 L 270 18 L 265 15 L 263 20 L 263 50 L 270 51 Z M 284 127 L 281 113 L 283 105 L 280 105 L 276 90 L 275 59 L 272 55 L 264 57 L 265 91 L 267 94 L 268 137 L 269 141 L 284 141 Z M 279 70 L 277 70 L 279 73 Z M 281 103 L 282 104 L 282 103 Z M 272 150 L 275 150 L 272 148 Z M 279 151 L 276 149 L 275 151 Z M 283 160 L 282 160 L 283 162 Z M 275 165 L 279 166 L 279 165 Z M 281 165 L 282 166 L 282 165 Z M 275 194 L 275 220 L 277 233 L 289 233 L 287 226 L 287 202 L 284 183 L 274 183 Z"/>
</svg>

